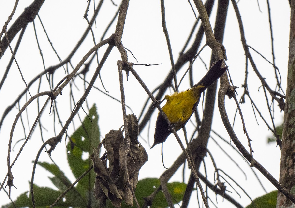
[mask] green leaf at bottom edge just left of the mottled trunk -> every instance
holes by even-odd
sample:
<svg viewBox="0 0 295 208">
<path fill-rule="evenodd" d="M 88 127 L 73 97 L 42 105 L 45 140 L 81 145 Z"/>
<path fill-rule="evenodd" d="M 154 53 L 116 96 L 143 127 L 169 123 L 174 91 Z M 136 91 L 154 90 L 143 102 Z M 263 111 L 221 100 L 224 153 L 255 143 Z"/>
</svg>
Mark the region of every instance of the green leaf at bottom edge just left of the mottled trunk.
<svg viewBox="0 0 295 208">
<path fill-rule="evenodd" d="M 278 190 L 275 190 L 254 199 L 253 202 L 257 208 L 276 208 L 277 195 Z M 245 208 L 256 208 L 253 202 Z"/>
</svg>

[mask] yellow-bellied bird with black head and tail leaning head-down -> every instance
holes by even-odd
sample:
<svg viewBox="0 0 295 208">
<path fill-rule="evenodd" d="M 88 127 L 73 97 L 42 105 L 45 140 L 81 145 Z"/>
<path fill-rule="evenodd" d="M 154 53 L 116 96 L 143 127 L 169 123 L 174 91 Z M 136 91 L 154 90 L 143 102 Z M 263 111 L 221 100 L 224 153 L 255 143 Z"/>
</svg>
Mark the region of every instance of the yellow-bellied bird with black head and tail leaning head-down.
<svg viewBox="0 0 295 208">
<path fill-rule="evenodd" d="M 213 64 L 205 76 L 191 89 L 174 92 L 172 95 L 165 95 L 163 101 L 166 100 L 166 103 L 162 110 L 174 126 L 175 131 L 182 129 L 186 122 L 189 121 L 189 118 L 191 118 L 199 104 L 201 93 L 227 70 L 228 66 L 221 67 L 222 61 L 223 59 Z M 155 140 L 150 149 L 157 144 L 165 142 L 169 134 L 171 134 L 171 130 L 168 123 L 159 112 L 155 125 Z"/>
</svg>

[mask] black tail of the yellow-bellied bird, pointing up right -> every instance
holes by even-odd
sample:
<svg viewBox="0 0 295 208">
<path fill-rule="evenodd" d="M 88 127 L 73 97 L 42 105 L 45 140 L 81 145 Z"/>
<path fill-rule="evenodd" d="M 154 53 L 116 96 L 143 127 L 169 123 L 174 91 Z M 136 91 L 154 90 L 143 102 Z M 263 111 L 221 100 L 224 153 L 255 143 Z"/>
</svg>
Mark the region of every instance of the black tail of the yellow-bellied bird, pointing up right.
<svg viewBox="0 0 295 208">
<path fill-rule="evenodd" d="M 217 61 L 194 87 L 203 85 L 204 87 L 201 88 L 201 92 L 204 92 L 212 85 L 227 70 L 227 67 L 221 68 L 222 61 L 222 59 Z"/>
</svg>

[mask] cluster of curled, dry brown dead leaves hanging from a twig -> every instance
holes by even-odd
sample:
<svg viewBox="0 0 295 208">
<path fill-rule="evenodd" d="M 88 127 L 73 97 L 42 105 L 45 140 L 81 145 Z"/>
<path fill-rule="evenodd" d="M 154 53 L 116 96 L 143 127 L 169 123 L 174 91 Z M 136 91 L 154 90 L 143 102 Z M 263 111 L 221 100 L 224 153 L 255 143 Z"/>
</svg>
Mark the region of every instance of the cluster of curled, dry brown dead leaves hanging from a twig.
<svg viewBox="0 0 295 208">
<path fill-rule="evenodd" d="M 131 150 L 127 155 L 127 169 L 131 186 L 135 191 L 139 170 L 148 161 L 148 154 L 138 142 L 139 129 L 136 116 L 128 115 L 127 119 Z M 102 144 L 106 149 L 106 157 L 103 160 L 99 157 Z M 133 206 L 132 190 L 127 184 L 124 166 L 125 144 L 126 139 L 122 130 L 111 130 L 106 134 L 103 143 L 97 149 L 94 148 L 91 155 L 96 173 L 94 196 L 99 201 L 100 207 L 106 206 L 106 199 L 109 199 L 115 207 L 121 207 L 123 200 L 129 206 Z"/>
</svg>

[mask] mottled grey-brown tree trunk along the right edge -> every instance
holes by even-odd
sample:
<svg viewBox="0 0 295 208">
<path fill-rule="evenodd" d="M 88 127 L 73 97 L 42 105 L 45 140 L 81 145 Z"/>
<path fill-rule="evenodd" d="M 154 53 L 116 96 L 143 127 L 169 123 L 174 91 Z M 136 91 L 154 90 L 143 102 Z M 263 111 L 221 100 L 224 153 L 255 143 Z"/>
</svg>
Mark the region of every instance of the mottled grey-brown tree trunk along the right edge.
<svg viewBox="0 0 295 208">
<path fill-rule="evenodd" d="M 286 105 L 283 125 L 280 183 L 289 191 L 295 185 L 295 0 L 291 0 L 291 24 Z M 276 207 L 289 208 L 294 204 L 280 192 Z"/>
</svg>

